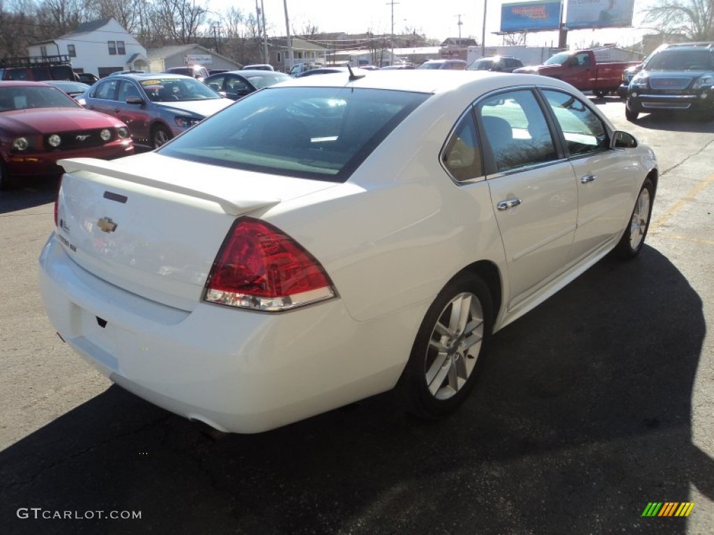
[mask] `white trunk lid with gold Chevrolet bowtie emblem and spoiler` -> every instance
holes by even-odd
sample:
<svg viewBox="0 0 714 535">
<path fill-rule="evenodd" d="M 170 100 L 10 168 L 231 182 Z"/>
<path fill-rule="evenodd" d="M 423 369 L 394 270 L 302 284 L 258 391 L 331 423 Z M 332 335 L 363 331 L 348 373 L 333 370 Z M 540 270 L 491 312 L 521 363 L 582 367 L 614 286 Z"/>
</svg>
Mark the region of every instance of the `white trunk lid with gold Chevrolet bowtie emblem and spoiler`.
<svg viewBox="0 0 714 535">
<path fill-rule="evenodd" d="M 113 285 L 192 310 L 239 215 L 335 184 L 146 153 L 76 158 L 59 193 L 56 233 L 73 260 Z"/>
</svg>

